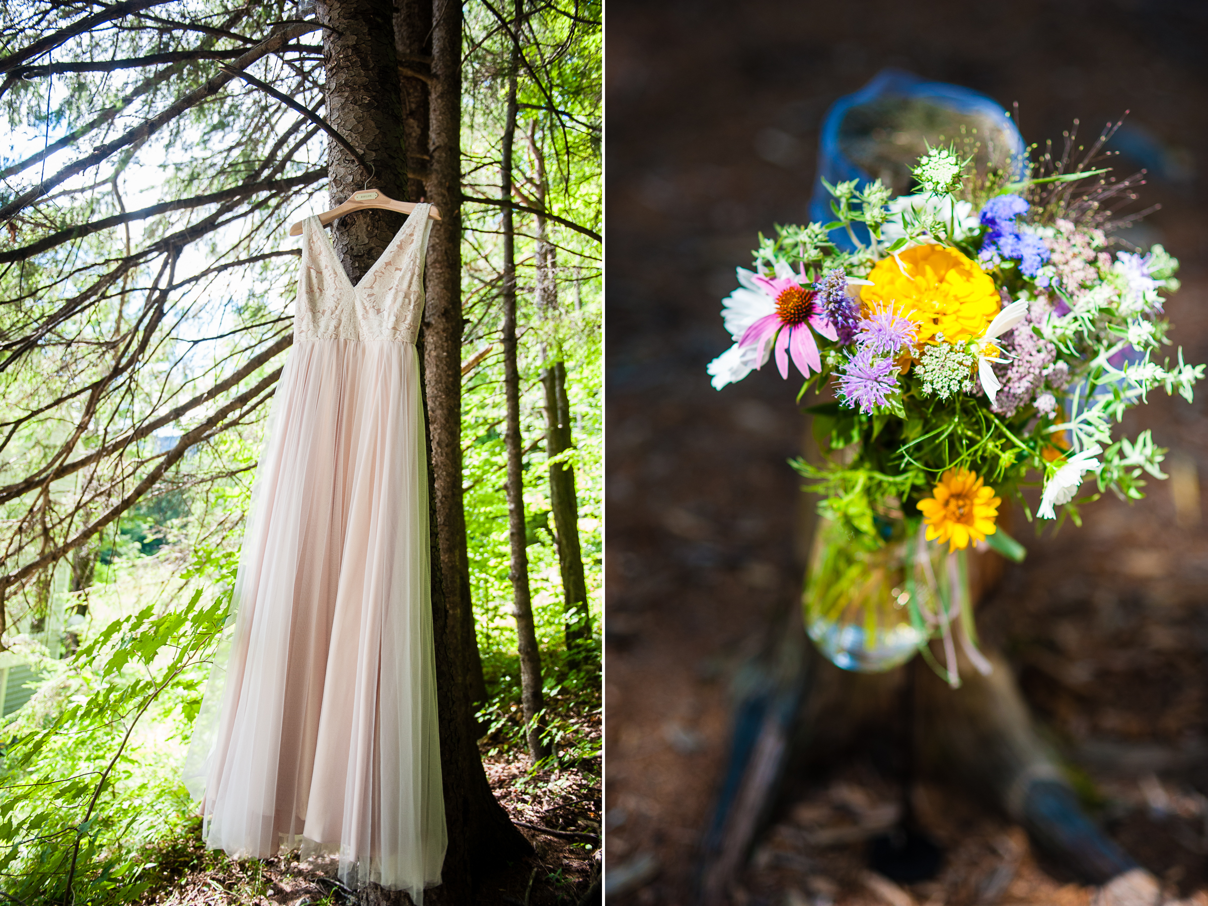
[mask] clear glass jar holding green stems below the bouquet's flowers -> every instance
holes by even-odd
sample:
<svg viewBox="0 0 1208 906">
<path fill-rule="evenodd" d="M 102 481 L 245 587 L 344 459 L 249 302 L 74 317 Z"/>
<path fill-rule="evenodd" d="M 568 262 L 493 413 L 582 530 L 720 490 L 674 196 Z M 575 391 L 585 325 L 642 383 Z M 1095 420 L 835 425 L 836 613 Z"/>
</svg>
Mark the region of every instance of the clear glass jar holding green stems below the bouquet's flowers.
<svg viewBox="0 0 1208 906">
<path fill-rule="evenodd" d="M 877 516 L 875 525 L 873 540 L 819 521 L 803 602 L 814 645 L 860 673 L 913 657 L 941 622 L 956 618 L 968 582 L 964 551 L 949 556 L 923 538 L 923 527 L 907 534 L 901 518 Z"/>
</svg>

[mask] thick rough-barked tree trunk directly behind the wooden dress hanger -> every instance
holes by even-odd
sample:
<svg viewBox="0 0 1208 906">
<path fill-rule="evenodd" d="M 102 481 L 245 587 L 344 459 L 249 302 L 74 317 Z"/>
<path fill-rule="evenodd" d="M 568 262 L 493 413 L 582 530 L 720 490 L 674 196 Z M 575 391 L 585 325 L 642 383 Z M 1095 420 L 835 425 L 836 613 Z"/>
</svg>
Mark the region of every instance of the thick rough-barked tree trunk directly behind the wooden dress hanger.
<svg viewBox="0 0 1208 906">
<path fill-rule="evenodd" d="M 407 186 L 402 99 L 390 0 L 321 0 L 315 5 L 326 63 L 327 121 L 361 152 L 365 173 L 343 147 L 327 141 L 331 205 L 365 187 L 400 198 Z M 385 251 L 402 226 L 394 211 L 362 210 L 332 225 L 336 255 L 356 283 Z"/>
</svg>

